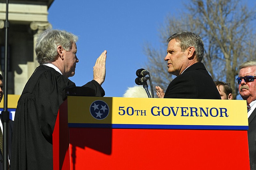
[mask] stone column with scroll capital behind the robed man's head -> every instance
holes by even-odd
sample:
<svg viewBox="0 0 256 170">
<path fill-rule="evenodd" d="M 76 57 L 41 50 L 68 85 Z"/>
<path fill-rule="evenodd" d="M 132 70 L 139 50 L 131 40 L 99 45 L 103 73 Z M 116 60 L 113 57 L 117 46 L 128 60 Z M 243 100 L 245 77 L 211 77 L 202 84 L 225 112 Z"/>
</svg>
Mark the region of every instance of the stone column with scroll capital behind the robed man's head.
<svg viewBox="0 0 256 170">
<path fill-rule="evenodd" d="M 30 28 L 31 30 L 35 31 L 34 33 L 34 60 L 33 62 L 28 62 L 28 77 L 30 77 L 36 67 L 39 66 L 39 63 L 36 61 L 36 52 L 35 52 L 35 46 L 36 46 L 36 40 L 37 40 L 37 35 L 41 33 L 42 31 L 51 28 L 52 25 L 49 22 L 31 22 Z"/>
</svg>

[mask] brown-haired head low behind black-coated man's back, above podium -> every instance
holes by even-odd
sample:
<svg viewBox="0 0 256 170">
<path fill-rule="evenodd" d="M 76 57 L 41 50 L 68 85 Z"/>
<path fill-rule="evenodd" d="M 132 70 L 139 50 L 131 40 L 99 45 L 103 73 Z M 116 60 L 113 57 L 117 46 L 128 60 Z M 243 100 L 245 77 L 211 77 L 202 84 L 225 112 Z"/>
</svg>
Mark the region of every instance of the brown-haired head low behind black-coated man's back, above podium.
<svg viewBox="0 0 256 170">
<path fill-rule="evenodd" d="M 223 81 L 215 81 L 214 82 L 219 93 L 221 100 L 232 100 L 233 95 L 232 95 L 232 89 L 228 83 L 225 83 Z"/>
</svg>

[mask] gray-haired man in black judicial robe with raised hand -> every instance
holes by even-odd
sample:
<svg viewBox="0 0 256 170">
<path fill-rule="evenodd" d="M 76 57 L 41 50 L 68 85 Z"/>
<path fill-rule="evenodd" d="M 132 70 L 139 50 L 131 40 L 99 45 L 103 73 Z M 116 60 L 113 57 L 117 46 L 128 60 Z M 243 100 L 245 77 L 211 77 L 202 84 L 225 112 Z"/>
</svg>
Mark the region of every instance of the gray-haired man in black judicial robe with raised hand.
<svg viewBox="0 0 256 170">
<path fill-rule="evenodd" d="M 12 169 L 53 169 L 52 133 L 63 102 L 62 92 L 75 86 L 68 77 L 75 74 L 78 62 L 76 41 L 77 36 L 60 30 L 46 30 L 39 35 L 35 50 L 40 66 L 25 85 L 15 113 Z M 51 48 L 53 53 L 48 59 Z M 84 85 L 95 96 L 105 95 L 101 84 L 105 80 L 106 53 L 93 67 L 94 79 Z"/>
</svg>

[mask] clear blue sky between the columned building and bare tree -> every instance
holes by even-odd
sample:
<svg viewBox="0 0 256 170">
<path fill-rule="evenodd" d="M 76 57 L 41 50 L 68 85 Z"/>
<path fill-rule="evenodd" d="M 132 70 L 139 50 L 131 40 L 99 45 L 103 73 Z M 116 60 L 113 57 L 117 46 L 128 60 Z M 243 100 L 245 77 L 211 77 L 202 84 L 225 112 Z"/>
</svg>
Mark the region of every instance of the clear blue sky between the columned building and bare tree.
<svg viewBox="0 0 256 170">
<path fill-rule="evenodd" d="M 79 37 L 79 63 L 75 76 L 70 79 L 77 86 L 91 81 L 94 63 L 106 49 L 106 80 L 102 87 L 106 97 L 122 97 L 128 87 L 135 85 L 136 70 L 147 62 L 144 44 L 162 45 L 158 36 L 160 24 L 167 15 L 179 17 L 184 10 L 182 4 L 188 2 L 54 0 L 48 11 L 48 20 L 54 29 L 67 30 Z"/>
</svg>

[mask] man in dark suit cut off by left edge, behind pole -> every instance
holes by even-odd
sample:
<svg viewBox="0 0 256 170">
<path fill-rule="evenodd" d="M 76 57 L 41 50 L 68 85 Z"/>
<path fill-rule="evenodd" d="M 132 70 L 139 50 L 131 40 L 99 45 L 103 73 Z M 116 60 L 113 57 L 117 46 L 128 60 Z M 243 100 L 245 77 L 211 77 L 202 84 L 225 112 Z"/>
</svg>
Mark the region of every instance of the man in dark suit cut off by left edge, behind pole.
<svg viewBox="0 0 256 170">
<path fill-rule="evenodd" d="M 0 103 L 3 99 L 3 95 L 4 95 L 4 92 L 3 92 L 3 76 L 0 74 Z M 1 127 L 1 130 L 3 132 L 3 120 L 2 120 L 2 115 L 0 114 L 0 124 L 2 125 Z M 9 120 L 9 123 L 8 123 L 8 157 L 9 159 L 11 159 L 11 152 L 12 152 L 12 128 L 13 128 L 13 121 L 12 120 Z M 4 160 L 3 160 L 3 151 L 0 150 L 0 170 L 3 170 L 4 169 Z"/>
</svg>

